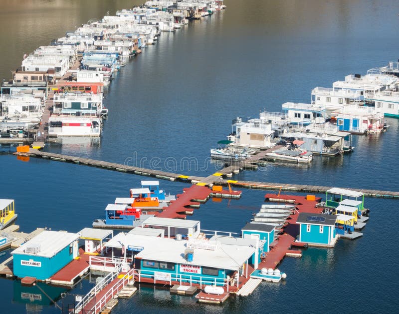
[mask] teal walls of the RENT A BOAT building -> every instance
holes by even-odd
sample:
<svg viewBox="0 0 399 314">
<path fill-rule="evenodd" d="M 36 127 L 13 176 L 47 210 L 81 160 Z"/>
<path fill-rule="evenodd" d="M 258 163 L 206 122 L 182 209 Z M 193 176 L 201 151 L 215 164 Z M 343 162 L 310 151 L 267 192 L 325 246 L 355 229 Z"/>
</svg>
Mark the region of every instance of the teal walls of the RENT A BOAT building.
<svg viewBox="0 0 399 314">
<path fill-rule="evenodd" d="M 21 260 L 40 262 L 41 267 L 21 265 Z M 34 255 L 13 255 L 14 275 L 20 278 L 30 276 L 38 280 L 46 280 L 58 272 L 61 268 L 73 260 L 73 254 L 69 254 L 69 245 L 58 252 L 52 258 Z"/>
</svg>

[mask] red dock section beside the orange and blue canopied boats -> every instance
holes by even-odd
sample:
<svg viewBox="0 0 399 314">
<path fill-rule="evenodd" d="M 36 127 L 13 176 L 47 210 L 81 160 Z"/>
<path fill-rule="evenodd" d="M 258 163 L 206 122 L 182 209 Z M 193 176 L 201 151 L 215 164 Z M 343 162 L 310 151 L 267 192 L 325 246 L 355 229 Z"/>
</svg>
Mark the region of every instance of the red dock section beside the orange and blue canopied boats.
<svg viewBox="0 0 399 314">
<path fill-rule="evenodd" d="M 188 208 L 199 207 L 200 203 L 206 202 L 209 197 L 215 194 L 214 191 L 206 186 L 192 185 L 190 188 L 184 188 L 182 194 L 176 195 L 176 201 L 172 201 L 168 207 L 164 207 L 161 213 L 157 213 L 157 217 L 164 218 L 181 218 L 186 219 L 185 212 Z M 222 190 L 216 192 L 218 197 L 234 197 L 239 198 L 241 191 Z"/>
</svg>

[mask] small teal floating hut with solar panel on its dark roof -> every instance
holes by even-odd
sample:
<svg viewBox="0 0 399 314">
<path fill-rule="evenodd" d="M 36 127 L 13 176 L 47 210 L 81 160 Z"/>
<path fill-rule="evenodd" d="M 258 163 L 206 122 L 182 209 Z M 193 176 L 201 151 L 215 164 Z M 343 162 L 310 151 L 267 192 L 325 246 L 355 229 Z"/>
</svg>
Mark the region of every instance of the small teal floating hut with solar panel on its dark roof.
<svg viewBox="0 0 399 314">
<path fill-rule="evenodd" d="M 314 246 L 333 247 L 338 239 L 336 221 L 337 215 L 300 213 L 296 222 L 300 225 L 299 241 Z"/>
</svg>

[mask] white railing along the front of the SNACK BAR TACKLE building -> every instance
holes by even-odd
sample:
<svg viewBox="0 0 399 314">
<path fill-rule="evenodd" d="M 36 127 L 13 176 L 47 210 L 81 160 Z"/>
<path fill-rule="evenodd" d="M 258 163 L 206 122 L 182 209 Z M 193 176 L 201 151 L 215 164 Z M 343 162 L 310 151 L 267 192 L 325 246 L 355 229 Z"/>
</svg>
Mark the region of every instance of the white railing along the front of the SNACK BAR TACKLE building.
<svg viewBox="0 0 399 314">
<path fill-rule="evenodd" d="M 142 278 L 150 278 L 154 281 L 154 285 L 157 283 L 156 274 L 159 273 L 156 271 L 147 271 L 147 270 L 135 270 L 134 276 L 138 277 L 138 281 L 141 282 Z M 193 285 L 198 285 L 200 289 L 204 286 L 226 286 L 228 292 L 229 280 L 224 278 L 212 278 L 212 277 L 204 277 L 200 275 L 184 275 L 184 274 L 176 274 L 176 273 L 162 273 L 165 277 L 163 279 L 158 279 L 158 281 L 169 281 L 169 285 L 172 286 L 173 282 L 180 283 L 182 285 L 190 284 L 190 287 Z M 231 279 L 230 279 L 231 280 Z"/>
</svg>

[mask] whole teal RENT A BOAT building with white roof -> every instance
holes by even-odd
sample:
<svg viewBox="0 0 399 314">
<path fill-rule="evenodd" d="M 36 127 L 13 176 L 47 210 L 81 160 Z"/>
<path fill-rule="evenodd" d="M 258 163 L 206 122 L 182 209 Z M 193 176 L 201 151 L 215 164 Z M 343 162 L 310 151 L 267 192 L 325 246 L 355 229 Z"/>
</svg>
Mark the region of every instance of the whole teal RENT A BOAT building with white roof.
<svg viewBox="0 0 399 314">
<path fill-rule="evenodd" d="M 11 252 L 14 275 L 49 279 L 78 256 L 78 240 L 77 233 L 44 230 Z"/>
</svg>

